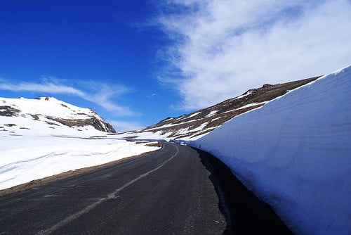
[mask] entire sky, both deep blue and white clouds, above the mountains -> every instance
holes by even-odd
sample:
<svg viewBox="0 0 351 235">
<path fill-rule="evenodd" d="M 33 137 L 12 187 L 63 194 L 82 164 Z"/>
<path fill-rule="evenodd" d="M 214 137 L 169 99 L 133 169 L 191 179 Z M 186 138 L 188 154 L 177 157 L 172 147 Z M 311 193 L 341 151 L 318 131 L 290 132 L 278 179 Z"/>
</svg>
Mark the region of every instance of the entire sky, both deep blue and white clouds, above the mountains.
<svg viewBox="0 0 351 235">
<path fill-rule="evenodd" d="M 336 14 L 337 13 L 337 14 Z M 119 130 L 351 63 L 350 1 L 0 1 L 0 96 Z"/>
</svg>

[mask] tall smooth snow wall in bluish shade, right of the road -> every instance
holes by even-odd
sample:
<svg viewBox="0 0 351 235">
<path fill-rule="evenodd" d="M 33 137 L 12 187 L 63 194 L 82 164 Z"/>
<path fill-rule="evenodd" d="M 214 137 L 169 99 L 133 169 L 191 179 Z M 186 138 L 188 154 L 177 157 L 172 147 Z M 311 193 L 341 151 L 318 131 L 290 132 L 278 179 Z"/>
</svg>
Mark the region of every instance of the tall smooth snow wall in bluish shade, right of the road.
<svg viewBox="0 0 351 235">
<path fill-rule="evenodd" d="M 351 66 L 193 141 L 297 234 L 351 234 Z"/>
</svg>

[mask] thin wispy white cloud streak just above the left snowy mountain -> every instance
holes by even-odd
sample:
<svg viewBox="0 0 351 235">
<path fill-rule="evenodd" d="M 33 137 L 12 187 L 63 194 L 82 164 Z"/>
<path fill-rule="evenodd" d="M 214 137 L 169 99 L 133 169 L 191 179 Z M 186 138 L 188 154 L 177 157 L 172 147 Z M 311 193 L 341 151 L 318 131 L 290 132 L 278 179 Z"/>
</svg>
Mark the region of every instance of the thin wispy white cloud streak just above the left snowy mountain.
<svg viewBox="0 0 351 235">
<path fill-rule="evenodd" d="M 19 82 L 11 83 L 6 80 L 0 80 L 0 90 L 7 91 L 29 91 L 45 94 L 69 94 L 78 96 L 81 99 L 95 103 L 105 110 L 113 112 L 116 116 L 138 115 L 133 110 L 119 106 L 113 101 L 114 98 L 126 94 L 130 91 L 122 85 L 111 85 L 100 82 L 83 82 L 75 81 L 73 84 L 67 85 L 68 80 L 60 80 L 56 77 L 43 77 L 42 82 Z"/>
</svg>

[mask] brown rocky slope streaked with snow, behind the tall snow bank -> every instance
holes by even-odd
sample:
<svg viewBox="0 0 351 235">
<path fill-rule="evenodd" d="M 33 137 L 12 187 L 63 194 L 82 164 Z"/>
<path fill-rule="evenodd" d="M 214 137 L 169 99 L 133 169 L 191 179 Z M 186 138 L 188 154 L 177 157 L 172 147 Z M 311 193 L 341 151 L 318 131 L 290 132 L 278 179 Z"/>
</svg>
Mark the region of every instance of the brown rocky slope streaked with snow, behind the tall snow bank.
<svg viewBox="0 0 351 235">
<path fill-rule="evenodd" d="M 227 99 L 214 106 L 181 115 L 177 118 L 166 118 L 145 129 L 126 132 L 120 134 L 120 136 L 127 139 L 197 139 L 220 127 L 235 116 L 263 106 L 268 101 L 317 78 L 311 77 L 284 84 L 264 84 L 263 87 L 250 89 L 241 96 Z"/>
</svg>

